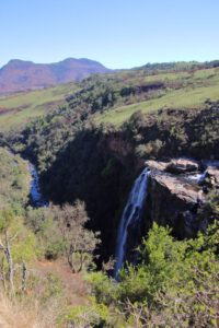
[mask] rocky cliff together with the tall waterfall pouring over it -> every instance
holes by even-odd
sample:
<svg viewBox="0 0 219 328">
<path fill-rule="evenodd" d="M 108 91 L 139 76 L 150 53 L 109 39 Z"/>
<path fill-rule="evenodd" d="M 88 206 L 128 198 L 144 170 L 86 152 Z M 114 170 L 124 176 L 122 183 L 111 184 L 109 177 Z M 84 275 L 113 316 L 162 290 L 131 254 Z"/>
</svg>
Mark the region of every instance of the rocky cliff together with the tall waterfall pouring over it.
<svg viewBox="0 0 219 328">
<path fill-rule="evenodd" d="M 189 238 L 216 219 L 208 194 L 219 188 L 219 163 L 173 159 L 147 161 L 145 166 L 132 184 L 120 216 L 118 267 L 124 258 L 136 261 L 136 248 L 153 222 L 171 227 L 177 238 Z"/>
</svg>

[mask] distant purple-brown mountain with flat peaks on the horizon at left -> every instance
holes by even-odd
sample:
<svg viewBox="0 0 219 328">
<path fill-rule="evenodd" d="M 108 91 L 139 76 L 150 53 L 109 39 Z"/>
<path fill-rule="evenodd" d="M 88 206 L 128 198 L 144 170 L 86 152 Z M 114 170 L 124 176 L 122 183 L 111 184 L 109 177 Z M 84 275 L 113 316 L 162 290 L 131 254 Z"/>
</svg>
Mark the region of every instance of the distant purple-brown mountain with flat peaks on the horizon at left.
<svg viewBox="0 0 219 328">
<path fill-rule="evenodd" d="M 81 81 L 92 73 L 110 71 L 102 63 L 85 58 L 68 58 L 55 63 L 13 59 L 0 69 L 0 94 Z"/>
</svg>

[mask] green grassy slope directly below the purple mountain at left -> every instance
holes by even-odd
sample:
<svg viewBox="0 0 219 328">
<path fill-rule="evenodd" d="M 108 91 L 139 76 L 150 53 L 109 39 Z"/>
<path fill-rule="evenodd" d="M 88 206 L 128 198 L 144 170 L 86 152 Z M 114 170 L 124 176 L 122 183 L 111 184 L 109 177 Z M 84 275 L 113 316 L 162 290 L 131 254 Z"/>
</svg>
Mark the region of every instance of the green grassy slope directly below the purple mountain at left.
<svg viewBox="0 0 219 328">
<path fill-rule="evenodd" d="M 76 90 L 76 84 L 68 83 L 0 97 L 0 130 L 25 125 L 31 118 L 56 108 Z"/>
</svg>

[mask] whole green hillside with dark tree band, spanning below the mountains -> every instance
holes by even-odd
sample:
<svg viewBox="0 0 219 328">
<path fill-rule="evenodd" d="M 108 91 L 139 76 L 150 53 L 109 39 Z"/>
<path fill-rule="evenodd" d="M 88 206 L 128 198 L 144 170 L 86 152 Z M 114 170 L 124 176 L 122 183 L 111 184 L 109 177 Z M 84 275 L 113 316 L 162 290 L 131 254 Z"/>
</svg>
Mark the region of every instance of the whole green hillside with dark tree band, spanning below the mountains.
<svg viewBox="0 0 219 328">
<path fill-rule="evenodd" d="M 201 108 L 209 98 L 219 99 L 218 67 L 124 70 L 93 75 L 80 84 L 0 97 L 0 129 L 25 126 L 30 119 L 51 113 L 60 105 L 72 115 L 80 112 L 97 124 L 119 126 L 137 110 Z"/>
</svg>

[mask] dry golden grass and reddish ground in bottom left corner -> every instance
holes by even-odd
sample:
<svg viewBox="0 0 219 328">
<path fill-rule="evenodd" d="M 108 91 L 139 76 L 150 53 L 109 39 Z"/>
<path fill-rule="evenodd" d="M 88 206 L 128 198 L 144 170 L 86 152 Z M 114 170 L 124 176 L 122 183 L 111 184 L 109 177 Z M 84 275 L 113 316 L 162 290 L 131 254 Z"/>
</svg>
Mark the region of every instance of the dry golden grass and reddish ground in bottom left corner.
<svg viewBox="0 0 219 328">
<path fill-rule="evenodd" d="M 88 305 L 82 274 L 72 274 L 62 261 L 37 261 L 33 272 L 24 294 L 18 291 L 18 295 L 10 298 L 0 292 L 0 328 L 66 328 L 60 318 L 67 309 Z M 49 294 L 51 285 L 46 282 L 49 274 L 59 281 L 61 293 Z M 31 288 L 32 279 L 37 281 L 35 288 Z M 51 283 L 56 289 L 56 281 Z"/>
</svg>

